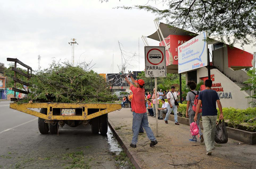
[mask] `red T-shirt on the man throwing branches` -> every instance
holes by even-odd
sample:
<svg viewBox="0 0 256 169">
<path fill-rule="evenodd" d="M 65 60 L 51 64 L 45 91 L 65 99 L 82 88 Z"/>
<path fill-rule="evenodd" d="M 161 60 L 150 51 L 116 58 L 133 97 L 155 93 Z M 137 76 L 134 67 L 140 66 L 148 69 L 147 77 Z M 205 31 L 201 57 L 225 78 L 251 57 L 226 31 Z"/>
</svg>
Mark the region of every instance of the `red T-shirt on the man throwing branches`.
<svg viewBox="0 0 256 169">
<path fill-rule="evenodd" d="M 147 112 L 145 106 L 145 89 L 131 86 L 130 90 L 133 92 L 133 99 L 131 100 L 131 110 L 136 113 Z"/>
</svg>

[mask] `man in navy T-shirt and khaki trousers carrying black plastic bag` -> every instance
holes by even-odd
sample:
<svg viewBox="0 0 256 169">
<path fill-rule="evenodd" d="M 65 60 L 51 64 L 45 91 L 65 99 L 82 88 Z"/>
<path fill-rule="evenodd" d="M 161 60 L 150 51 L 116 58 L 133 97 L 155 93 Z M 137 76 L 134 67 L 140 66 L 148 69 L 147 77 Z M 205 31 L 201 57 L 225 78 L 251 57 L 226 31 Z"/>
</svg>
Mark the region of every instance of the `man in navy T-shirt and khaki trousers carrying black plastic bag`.
<svg viewBox="0 0 256 169">
<path fill-rule="evenodd" d="M 205 90 L 201 91 L 198 96 L 197 109 L 195 112 L 194 121 L 198 119 L 198 113 L 202 105 L 202 120 L 204 127 L 204 143 L 206 146 L 207 155 L 212 154 L 214 149 L 214 136 L 216 128 L 216 120 L 218 111 L 216 109 L 216 102 L 220 111 L 219 120 L 223 119 L 222 106 L 219 101 L 219 95 L 215 90 L 211 90 L 212 80 L 207 79 L 204 82 Z"/>
</svg>

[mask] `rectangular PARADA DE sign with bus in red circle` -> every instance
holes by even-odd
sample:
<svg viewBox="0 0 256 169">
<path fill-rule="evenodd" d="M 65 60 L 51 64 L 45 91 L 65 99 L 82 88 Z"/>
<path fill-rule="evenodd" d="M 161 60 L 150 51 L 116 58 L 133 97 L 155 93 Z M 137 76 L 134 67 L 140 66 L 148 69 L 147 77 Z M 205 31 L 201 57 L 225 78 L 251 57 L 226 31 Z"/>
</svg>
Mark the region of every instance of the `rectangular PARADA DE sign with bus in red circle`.
<svg viewBox="0 0 256 169">
<path fill-rule="evenodd" d="M 165 46 L 145 46 L 146 77 L 166 77 Z"/>
</svg>

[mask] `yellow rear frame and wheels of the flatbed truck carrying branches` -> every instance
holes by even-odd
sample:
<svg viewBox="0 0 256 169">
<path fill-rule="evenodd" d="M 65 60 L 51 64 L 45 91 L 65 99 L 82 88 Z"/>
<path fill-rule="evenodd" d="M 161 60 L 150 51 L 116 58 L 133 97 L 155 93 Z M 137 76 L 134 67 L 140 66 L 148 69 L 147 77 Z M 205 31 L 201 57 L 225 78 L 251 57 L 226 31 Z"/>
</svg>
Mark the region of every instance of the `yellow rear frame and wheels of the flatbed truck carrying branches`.
<svg viewBox="0 0 256 169">
<path fill-rule="evenodd" d="M 76 127 L 91 124 L 91 132 L 106 135 L 108 113 L 121 109 L 117 103 L 10 103 L 10 108 L 38 117 L 41 134 L 58 133 L 59 126 L 65 124 Z M 32 109 L 40 109 L 37 112 Z"/>
</svg>

